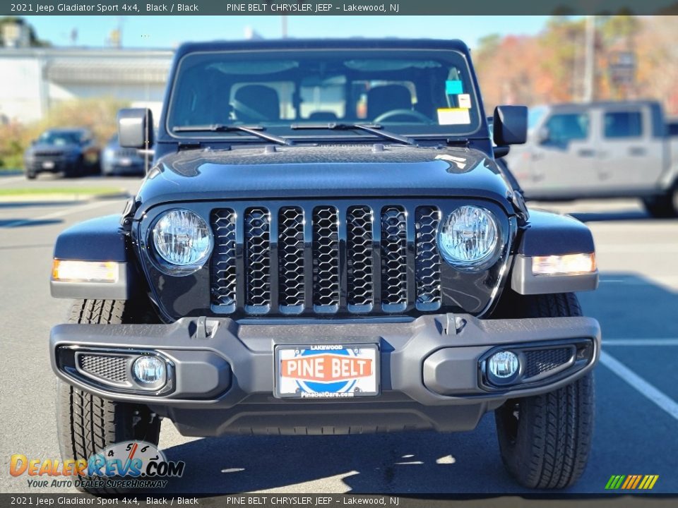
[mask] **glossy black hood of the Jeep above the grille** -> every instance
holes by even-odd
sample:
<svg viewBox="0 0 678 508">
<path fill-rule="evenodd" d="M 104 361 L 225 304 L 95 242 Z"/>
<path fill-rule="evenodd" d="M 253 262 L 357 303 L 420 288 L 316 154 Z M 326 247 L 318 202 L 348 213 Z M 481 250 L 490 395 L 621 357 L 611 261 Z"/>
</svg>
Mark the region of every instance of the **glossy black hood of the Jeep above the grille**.
<svg viewBox="0 0 678 508">
<path fill-rule="evenodd" d="M 335 145 L 188 150 L 162 157 L 137 195 L 138 212 L 186 200 L 474 197 L 511 214 L 510 186 L 478 150 Z"/>
</svg>

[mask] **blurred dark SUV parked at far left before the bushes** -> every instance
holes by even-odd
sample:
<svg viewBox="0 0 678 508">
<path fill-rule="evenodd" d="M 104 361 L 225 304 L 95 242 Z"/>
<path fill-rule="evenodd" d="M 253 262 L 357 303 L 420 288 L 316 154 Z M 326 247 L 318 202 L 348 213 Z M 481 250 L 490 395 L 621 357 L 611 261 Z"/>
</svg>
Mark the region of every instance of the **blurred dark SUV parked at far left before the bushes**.
<svg viewBox="0 0 678 508">
<path fill-rule="evenodd" d="M 66 177 L 99 172 L 99 147 L 84 128 L 44 131 L 23 155 L 26 178 L 38 173 L 63 173 Z"/>
</svg>

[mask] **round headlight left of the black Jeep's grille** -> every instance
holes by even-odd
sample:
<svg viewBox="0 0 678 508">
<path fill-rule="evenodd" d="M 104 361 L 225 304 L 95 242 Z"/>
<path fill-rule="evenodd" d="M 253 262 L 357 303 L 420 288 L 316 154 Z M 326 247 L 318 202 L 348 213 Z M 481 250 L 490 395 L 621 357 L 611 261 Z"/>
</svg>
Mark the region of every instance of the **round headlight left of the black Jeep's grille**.
<svg viewBox="0 0 678 508">
<path fill-rule="evenodd" d="M 206 222 L 190 210 L 169 210 L 155 222 L 153 243 L 162 260 L 194 272 L 202 267 L 212 250 L 212 234 Z"/>
</svg>

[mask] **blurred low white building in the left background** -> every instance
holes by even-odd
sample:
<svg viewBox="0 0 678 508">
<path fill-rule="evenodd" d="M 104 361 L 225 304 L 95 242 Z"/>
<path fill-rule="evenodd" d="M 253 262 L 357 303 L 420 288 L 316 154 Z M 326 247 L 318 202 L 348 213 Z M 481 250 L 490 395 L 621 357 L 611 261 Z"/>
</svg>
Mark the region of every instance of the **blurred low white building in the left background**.
<svg viewBox="0 0 678 508">
<path fill-rule="evenodd" d="M 0 121 L 41 119 L 68 99 L 114 97 L 160 113 L 172 50 L 0 49 Z"/>
</svg>

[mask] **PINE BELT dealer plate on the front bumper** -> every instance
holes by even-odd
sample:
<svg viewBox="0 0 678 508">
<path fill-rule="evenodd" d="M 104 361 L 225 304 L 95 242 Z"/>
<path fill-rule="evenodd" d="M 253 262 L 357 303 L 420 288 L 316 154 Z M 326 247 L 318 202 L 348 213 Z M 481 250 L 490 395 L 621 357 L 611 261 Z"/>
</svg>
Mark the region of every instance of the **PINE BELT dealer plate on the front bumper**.
<svg viewBox="0 0 678 508">
<path fill-rule="evenodd" d="M 349 399 L 378 394 L 376 344 L 275 347 L 275 397 Z"/>
</svg>

